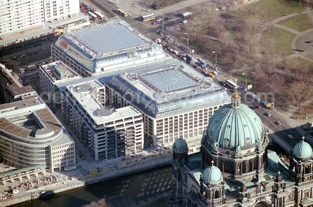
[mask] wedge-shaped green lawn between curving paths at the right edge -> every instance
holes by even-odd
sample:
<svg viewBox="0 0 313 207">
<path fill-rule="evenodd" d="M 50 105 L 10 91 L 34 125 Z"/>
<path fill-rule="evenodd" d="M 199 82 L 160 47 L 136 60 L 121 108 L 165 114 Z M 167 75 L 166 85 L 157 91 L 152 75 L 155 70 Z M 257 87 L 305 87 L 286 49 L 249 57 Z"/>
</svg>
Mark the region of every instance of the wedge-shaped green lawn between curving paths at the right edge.
<svg viewBox="0 0 313 207">
<path fill-rule="evenodd" d="M 313 28 L 313 23 L 308 17 L 307 14 L 298 15 L 295 17 L 290 17 L 283 21 L 278 22 L 280 25 L 284 25 L 286 27 L 290 27 L 299 32 L 303 32 L 305 30 Z"/>
</svg>

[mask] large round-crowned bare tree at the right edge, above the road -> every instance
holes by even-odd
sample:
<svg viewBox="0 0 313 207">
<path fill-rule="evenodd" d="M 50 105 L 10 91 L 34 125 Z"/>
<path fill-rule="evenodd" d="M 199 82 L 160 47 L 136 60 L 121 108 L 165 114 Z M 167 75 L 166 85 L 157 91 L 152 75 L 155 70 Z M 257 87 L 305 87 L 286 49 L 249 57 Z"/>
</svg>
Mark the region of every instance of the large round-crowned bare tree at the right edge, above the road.
<svg viewBox="0 0 313 207">
<path fill-rule="evenodd" d="M 290 87 L 290 97 L 295 104 L 300 106 L 313 95 L 313 87 L 305 81 L 295 81 Z"/>
</svg>

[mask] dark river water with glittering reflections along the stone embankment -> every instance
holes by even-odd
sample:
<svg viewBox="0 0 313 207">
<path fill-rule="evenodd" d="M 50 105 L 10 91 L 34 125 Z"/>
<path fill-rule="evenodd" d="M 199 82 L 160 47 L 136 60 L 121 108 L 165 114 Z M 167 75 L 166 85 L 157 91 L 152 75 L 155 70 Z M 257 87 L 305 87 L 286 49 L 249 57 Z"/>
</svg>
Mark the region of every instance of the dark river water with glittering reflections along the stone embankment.
<svg viewBox="0 0 313 207">
<path fill-rule="evenodd" d="M 68 190 L 43 199 L 13 205 L 12 207 L 80 207 L 103 197 L 114 207 L 124 207 L 154 195 L 167 192 L 172 179 L 172 166 L 146 170 L 112 180 Z"/>
</svg>

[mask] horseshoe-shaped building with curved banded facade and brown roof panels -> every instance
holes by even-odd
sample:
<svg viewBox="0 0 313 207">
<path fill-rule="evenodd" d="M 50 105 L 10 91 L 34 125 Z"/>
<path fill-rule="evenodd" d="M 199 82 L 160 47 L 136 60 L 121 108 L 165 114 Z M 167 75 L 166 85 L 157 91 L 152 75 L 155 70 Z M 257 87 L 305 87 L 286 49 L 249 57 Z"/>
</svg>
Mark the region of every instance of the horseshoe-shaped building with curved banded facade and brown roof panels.
<svg viewBox="0 0 313 207">
<path fill-rule="evenodd" d="M 74 141 L 39 97 L 0 106 L 0 152 L 18 168 L 75 164 Z"/>
</svg>

